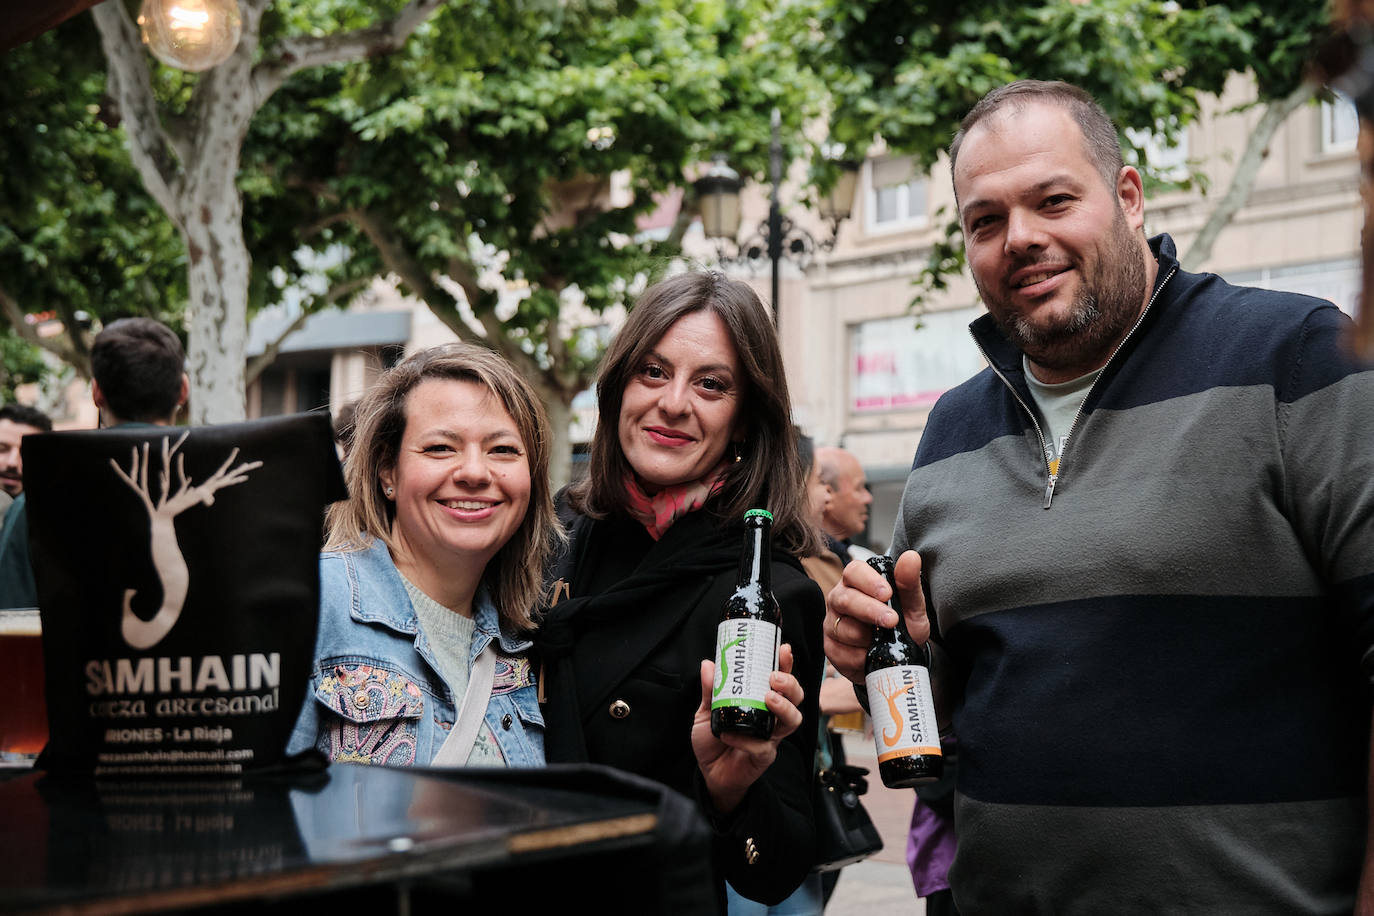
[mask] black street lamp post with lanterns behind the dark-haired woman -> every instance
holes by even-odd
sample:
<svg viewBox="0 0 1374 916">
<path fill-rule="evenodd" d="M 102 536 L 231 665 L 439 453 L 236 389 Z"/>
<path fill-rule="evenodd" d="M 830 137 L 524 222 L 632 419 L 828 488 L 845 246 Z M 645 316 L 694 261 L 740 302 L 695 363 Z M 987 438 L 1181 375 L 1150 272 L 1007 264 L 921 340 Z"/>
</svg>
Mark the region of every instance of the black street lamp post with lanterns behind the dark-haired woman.
<svg viewBox="0 0 1374 916">
<path fill-rule="evenodd" d="M 853 206 L 857 166 L 844 165 L 840 180 L 820 201 L 820 216 L 830 222 L 830 236 L 818 240 L 811 232 L 794 224 L 782 211 L 779 188 L 782 187 L 782 114 L 772 110 L 768 140 L 768 221 L 758 225 L 749 239 L 736 240 L 739 233 L 739 191 L 743 181 L 739 173 L 730 168 L 724 155 L 716 155 L 710 169 L 697 181 L 698 209 L 702 229 L 708 239 L 717 240 L 717 257 L 723 264 L 745 264 L 756 268 L 765 257 L 772 271 L 774 327 L 779 316 L 779 264 L 786 257 L 802 271 L 811 264 L 816 249 L 829 251 L 835 244 L 840 222 L 849 218 Z M 735 246 L 735 255 L 727 254 L 728 244 Z"/>
</svg>

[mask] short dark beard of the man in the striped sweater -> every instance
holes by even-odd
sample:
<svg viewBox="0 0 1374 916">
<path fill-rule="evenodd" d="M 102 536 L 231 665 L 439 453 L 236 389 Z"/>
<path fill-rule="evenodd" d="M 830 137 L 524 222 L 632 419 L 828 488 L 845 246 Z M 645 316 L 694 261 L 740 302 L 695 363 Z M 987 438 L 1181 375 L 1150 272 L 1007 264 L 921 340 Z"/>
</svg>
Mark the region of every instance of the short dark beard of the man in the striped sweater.
<svg viewBox="0 0 1374 916">
<path fill-rule="evenodd" d="M 1145 253 L 1120 207 L 1101 254 L 1095 265 L 1076 265 L 1083 273 L 1079 294 L 1069 314 L 1048 324 L 1032 321 L 1009 299 L 989 294 L 981 283 L 976 286 L 1002 334 L 1032 363 L 1055 372 L 1085 375 L 1107 361 L 1145 305 Z M 1011 269 L 1022 266 L 1026 264 Z"/>
</svg>

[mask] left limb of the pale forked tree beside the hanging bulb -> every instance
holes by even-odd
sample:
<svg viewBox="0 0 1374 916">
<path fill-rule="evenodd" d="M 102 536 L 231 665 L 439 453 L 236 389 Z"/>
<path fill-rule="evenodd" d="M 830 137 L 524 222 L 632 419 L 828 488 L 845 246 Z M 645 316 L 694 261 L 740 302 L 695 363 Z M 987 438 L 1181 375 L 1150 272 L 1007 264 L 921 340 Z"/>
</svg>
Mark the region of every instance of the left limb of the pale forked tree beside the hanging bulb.
<svg viewBox="0 0 1374 916">
<path fill-rule="evenodd" d="M 164 130 L 158 118 L 148 62 L 143 56 L 137 29 L 120 0 L 96 4 L 91 15 L 100 32 L 100 47 L 110 67 L 109 92 L 120 106 L 129 158 L 143 176 L 148 194 L 180 227 L 177 159 L 184 157 L 185 150 Z"/>
</svg>

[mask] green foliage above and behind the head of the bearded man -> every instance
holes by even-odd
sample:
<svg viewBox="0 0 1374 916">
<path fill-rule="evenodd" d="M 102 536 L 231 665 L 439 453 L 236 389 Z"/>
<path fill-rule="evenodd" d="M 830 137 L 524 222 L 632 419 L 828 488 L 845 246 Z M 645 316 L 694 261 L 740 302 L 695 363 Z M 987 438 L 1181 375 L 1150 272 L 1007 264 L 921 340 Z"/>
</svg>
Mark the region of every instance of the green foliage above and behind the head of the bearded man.
<svg viewBox="0 0 1374 916">
<path fill-rule="evenodd" d="M 1287 0 L 798 0 L 791 15 L 831 89 L 831 139 L 861 152 L 882 137 L 922 168 L 980 98 L 1020 78 L 1074 82 L 1120 126 L 1173 143 L 1232 74 L 1253 74 L 1260 104 L 1293 96 L 1327 21 L 1325 4 Z M 962 266 L 945 218 L 918 301 Z"/>
</svg>

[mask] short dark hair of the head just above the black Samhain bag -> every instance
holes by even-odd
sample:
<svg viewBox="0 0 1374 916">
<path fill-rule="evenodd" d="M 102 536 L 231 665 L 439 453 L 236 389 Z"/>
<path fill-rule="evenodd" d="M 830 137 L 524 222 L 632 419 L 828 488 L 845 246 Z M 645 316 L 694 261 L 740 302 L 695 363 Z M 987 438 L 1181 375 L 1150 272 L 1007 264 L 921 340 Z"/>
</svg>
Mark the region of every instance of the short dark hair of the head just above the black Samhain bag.
<svg viewBox="0 0 1374 916">
<path fill-rule="evenodd" d="M 185 350 L 172 328 L 153 319 L 120 319 L 91 345 L 91 376 L 110 413 L 126 423 L 157 423 L 181 401 Z"/>
</svg>

